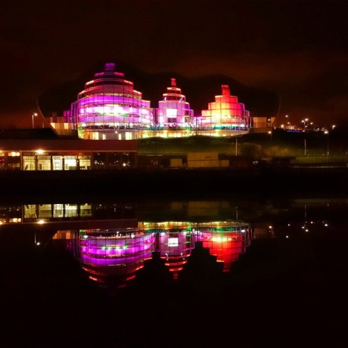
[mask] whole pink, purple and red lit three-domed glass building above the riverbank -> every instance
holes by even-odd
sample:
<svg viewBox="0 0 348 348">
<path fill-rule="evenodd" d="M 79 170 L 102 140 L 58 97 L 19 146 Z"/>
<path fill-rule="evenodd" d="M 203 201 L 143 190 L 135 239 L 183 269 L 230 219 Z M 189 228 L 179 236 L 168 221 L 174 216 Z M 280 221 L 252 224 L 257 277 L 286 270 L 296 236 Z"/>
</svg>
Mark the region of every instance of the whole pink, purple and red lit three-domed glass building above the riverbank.
<svg viewBox="0 0 348 348">
<path fill-rule="evenodd" d="M 103 72 L 85 84 L 77 101 L 63 117 L 49 118 L 60 134 L 78 131 L 90 140 L 134 140 L 150 137 L 175 138 L 193 135 L 233 136 L 248 132 L 250 112 L 222 85 L 222 95 L 208 103 L 208 109 L 194 116 L 176 79 L 166 88 L 157 108 L 150 107 L 125 74 L 116 72 L 115 63 L 106 63 Z"/>
</svg>

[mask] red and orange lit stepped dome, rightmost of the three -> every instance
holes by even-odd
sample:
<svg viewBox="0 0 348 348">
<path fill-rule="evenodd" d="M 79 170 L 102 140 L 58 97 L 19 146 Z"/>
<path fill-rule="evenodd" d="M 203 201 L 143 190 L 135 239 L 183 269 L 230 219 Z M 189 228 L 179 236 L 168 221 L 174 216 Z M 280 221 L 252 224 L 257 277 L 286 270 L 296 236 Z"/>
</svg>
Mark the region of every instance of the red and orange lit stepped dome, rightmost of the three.
<svg viewBox="0 0 348 348">
<path fill-rule="evenodd" d="M 200 127 L 247 131 L 251 122 L 250 112 L 238 102 L 237 97 L 230 95 L 228 85 L 221 85 L 221 88 L 222 95 L 216 95 L 215 102 L 209 102 L 208 109 L 202 110 L 202 116 L 197 121 Z"/>
</svg>

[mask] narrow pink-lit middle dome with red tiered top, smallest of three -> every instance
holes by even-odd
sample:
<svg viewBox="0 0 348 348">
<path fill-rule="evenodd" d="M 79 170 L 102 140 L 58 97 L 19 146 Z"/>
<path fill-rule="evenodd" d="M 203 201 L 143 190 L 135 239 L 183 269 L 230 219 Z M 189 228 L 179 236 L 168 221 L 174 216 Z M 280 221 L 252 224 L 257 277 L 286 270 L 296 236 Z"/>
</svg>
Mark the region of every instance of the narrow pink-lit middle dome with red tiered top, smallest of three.
<svg viewBox="0 0 348 348">
<path fill-rule="evenodd" d="M 171 79 L 171 87 L 163 94 L 163 100 L 154 109 L 155 125 L 159 127 L 184 128 L 189 127 L 193 120 L 193 110 L 190 109 L 185 95 L 177 88 L 176 80 Z"/>
</svg>

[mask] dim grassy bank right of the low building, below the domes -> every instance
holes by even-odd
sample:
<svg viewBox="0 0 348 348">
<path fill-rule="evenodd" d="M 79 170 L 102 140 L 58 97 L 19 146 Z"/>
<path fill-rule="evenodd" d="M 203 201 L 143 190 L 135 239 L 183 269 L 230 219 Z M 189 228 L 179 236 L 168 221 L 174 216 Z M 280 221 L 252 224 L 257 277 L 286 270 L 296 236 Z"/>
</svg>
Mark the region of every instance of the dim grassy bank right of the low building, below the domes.
<svg viewBox="0 0 348 348">
<path fill-rule="evenodd" d="M 345 136 L 324 132 L 285 132 L 274 129 L 272 134 L 250 133 L 226 138 L 191 136 L 177 139 L 141 139 L 139 155 L 187 155 L 187 152 L 219 152 L 224 155 L 269 157 L 327 157 L 342 161 L 348 159 L 348 141 Z M 304 159 L 301 159 L 304 161 Z"/>
</svg>

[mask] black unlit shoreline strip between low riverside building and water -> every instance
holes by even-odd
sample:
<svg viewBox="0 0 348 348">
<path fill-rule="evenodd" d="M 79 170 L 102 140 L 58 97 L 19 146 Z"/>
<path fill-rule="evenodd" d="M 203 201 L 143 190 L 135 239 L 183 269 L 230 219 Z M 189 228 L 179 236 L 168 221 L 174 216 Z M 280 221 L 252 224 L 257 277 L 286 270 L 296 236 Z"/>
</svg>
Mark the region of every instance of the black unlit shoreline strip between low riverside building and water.
<svg viewBox="0 0 348 348">
<path fill-rule="evenodd" d="M 0 171 L 7 198 L 113 199 L 335 197 L 348 194 L 348 168 L 190 168 Z"/>
</svg>

